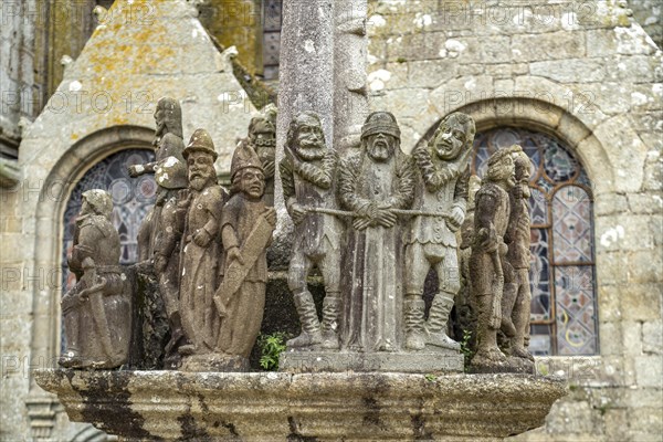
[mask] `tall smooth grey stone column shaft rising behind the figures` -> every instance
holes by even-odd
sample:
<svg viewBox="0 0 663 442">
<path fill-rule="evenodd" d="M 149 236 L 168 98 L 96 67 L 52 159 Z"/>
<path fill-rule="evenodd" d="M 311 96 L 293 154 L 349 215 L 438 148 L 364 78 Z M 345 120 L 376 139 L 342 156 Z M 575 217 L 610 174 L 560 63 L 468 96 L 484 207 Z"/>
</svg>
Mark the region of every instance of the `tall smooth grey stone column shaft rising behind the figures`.
<svg viewBox="0 0 663 442">
<path fill-rule="evenodd" d="M 283 158 L 290 122 L 299 112 L 316 112 L 327 141 L 334 139 L 334 2 L 284 0 L 278 75 L 277 162 Z M 287 219 L 280 176 L 275 186 L 278 236 Z"/>
</svg>

